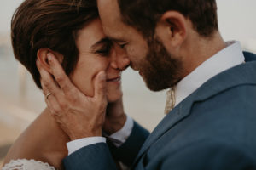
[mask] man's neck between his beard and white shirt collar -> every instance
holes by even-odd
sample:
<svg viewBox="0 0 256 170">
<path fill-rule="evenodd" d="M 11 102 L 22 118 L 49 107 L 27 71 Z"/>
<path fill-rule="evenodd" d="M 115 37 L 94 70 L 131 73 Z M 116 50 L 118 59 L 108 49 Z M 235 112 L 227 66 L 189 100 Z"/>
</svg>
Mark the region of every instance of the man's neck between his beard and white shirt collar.
<svg viewBox="0 0 256 170">
<path fill-rule="evenodd" d="M 212 37 L 190 37 L 185 45 L 186 50 L 183 54 L 183 68 L 185 72 L 183 77 L 189 75 L 204 61 L 211 58 L 214 54 L 226 47 L 225 42 L 219 32 L 213 34 Z"/>
</svg>

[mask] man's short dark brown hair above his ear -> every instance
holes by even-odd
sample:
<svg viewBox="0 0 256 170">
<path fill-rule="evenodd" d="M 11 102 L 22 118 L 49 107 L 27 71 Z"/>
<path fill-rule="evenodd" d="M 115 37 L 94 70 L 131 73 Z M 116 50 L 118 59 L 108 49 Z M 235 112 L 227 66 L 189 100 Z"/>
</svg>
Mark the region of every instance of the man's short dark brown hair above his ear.
<svg viewBox="0 0 256 170">
<path fill-rule="evenodd" d="M 218 31 L 215 0 L 118 0 L 122 20 L 143 34 L 152 36 L 157 22 L 166 11 L 177 11 L 192 21 L 195 31 L 210 37 Z"/>
</svg>

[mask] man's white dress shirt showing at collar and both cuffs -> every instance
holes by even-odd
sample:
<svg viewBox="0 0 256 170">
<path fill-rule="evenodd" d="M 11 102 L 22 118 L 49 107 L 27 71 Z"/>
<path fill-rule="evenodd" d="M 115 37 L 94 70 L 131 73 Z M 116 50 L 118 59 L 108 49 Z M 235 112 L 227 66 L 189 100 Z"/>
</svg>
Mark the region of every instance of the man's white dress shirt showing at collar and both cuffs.
<svg viewBox="0 0 256 170">
<path fill-rule="evenodd" d="M 187 98 L 189 94 L 195 92 L 197 88 L 200 88 L 204 82 L 207 82 L 210 78 L 218 75 L 218 73 L 228 70 L 231 67 L 240 65 L 244 62 L 244 56 L 241 50 L 240 42 L 227 42 L 227 47 L 207 59 L 201 65 L 199 65 L 194 71 L 192 71 L 187 77 L 177 83 L 177 86 L 173 88 L 174 93 L 174 107 L 178 105 L 183 99 Z M 109 136 L 109 139 L 116 139 L 119 142 L 113 142 L 117 147 L 125 143 L 126 139 L 131 134 L 133 127 L 133 120 L 130 116 L 127 116 L 125 126 L 118 132 Z M 103 137 L 91 137 L 73 140 L 67 143 L 68 155 L 74 151 L 88 146 L 90 144 L 105 143 L 106 139 Z"/>
</svg>

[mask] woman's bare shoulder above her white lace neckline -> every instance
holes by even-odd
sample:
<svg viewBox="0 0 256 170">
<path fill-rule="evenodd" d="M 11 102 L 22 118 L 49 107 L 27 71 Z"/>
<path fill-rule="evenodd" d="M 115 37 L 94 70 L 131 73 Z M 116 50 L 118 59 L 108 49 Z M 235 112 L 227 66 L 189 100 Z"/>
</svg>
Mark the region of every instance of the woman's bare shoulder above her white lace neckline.
<svg viewBox="0 0 256 170">
<path fill-rule="evenodd" d="M 54 118 L 44 110 L 38 118 L 20 134 L 5 157 L 4 164 L 12 160 L 36 160 L 61 167 L 61 160 L 67 156 L 68 137 Z"/>
</svg>

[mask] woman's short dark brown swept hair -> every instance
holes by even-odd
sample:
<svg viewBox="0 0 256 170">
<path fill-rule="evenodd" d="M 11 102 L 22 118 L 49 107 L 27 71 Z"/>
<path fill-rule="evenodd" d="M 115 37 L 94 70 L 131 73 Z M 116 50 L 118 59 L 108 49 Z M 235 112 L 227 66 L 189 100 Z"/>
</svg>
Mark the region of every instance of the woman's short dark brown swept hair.
<svg viewBox="0 0 256 170">
<path fill-rule="evenodd" d="M 76 33 L 97 17 L 95 0 L 26 0 L 16 9 L 11 21 L 15 58 L 31 72 L 38 88 L 42 88 L 38 49 L 62 54 L 62 66 L 69 75 L 79 58 Z"/>
</svg>

